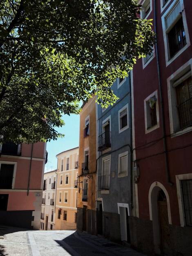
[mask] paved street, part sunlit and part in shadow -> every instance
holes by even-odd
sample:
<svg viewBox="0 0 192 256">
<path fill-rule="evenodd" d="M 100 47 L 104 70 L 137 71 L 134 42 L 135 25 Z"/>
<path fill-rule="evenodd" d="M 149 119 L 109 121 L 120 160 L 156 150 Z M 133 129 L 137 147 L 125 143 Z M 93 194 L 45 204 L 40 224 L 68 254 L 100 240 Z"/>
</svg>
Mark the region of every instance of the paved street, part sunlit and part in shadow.
<svg viewBox="0 0 192 256">
<path fill-rule="evenodd" d="M 0 226 L 0 256 L 143 256 L 129 247 L 71 230 Z"/>
</svg>

